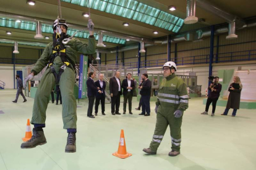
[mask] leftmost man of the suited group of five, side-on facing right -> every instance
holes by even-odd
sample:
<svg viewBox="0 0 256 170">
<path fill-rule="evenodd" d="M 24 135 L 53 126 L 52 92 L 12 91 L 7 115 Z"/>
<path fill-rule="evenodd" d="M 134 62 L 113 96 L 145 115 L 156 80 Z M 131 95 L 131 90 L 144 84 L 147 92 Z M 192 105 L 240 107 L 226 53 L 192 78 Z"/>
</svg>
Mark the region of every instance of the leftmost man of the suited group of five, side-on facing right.
<svg viewBox="0 0 256 170">
<path fill-rule="evenodd" d="M 95 99 L 95 95 L 96 93 L 101 93 L 100 88 L 96 87 L 94 84 L 93 79 L 95 78 L 95 73 L 90 72 L 88 74 L 89 78 L 86 81 L 86 85 L 87 85 L 87 96 L 89 99 L 89 106 L 88 106 L 88 110 L 87 110 L 87 116 L 89 118 L 95 118 L 95 116 L 92 115 L 92 110 L 93 110 L 93 103 L 94 103 L 94 99 Z"/>
</svg>

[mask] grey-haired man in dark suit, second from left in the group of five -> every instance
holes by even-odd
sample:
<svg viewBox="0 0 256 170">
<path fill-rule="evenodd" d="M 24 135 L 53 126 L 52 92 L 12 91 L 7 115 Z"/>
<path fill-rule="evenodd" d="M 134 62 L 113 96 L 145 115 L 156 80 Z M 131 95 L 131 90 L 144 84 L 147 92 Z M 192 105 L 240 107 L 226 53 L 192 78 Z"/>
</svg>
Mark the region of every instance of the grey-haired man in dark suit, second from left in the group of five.
<svg viewBox="0 0 256 170">
<path fill-rule="evenodd" d="M 96 102 L 95 102 L 95 116 L 98 114 L 98 107 L 101 102 L 101 113 L 105 115 L 105 89 L 106 89 L 106 82 L 103 81 L 103 74 L 100 74 L 99 80 L 95 81 L 96 87 L 100 88 L 101 93 L 97 92 L 96 94 Z"/>
</svg>

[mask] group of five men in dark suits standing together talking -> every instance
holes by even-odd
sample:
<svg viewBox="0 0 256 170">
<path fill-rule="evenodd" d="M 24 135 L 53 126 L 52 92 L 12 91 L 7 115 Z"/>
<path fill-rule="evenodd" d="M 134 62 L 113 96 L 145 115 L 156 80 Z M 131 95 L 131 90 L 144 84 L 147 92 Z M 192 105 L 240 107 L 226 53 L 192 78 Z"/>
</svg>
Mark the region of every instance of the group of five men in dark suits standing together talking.
<svg viewBox="0 0 256 170">
<path fill-rule="evenodd" d="M 106 90 L 106 82 L 103 80 L 104 75 L 99 75 L 99 80 L 94 82 L 93 79 L 95 78 L 95 73 L 90 72 L 88 73 L 87 79 L 87 96 L 89 99 L 89 105 L 87 110 L 87 116 L 89 118 L 95 118 L 98 115 L 98 106 L 101 102 L 101 113 L 102 115 L 105 114 L 105 90 Z M 128 102 L 128 111 L 129 114 L 132 115 L 132 97 L 134 97 L 135 87 L 137 82 L 132 79 L 132 74 L 127 73 L 126 79 L 123 79 L 122 83 L 120 80 L 120 72 L 116 71 L 114 76 L 109 79 L 109 92 L 111 96 L 111 114 L 112 115 L 121 115 L 119 113 L 120 107 L 120 98 L 121 95 L 124 96 L 124 105 L 123 105 L 123 114 L 126 114 L 126 106 Z M 139 84 L 141 103 L 142 103 L 142 113 L 139 115 L 150 116 L 150 92 L 151 92 L 151 81 L 148 79 L 147 74 L 142 75 L 142 83 Z M 93 113 L 93 105 L 94 100 L 96 97 L 95 102 L 95 116 L 92 115 Z M 146 114 L 147 112 L 147 114 Z"/>
</svg>

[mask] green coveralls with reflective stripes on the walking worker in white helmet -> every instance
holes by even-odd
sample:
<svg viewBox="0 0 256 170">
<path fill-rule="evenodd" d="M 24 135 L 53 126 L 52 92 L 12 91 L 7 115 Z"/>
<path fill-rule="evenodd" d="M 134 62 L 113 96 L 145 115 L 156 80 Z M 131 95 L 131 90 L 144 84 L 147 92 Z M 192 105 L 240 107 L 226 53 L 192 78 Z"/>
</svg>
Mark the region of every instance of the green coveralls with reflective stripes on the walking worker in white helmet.
<svg viewBox="0 0 256 170">
<path fill-rule="evenodd" d="M 174 111 L 185 111 L 189 107 L 189 97 L 187 95 L 187 86 L 181 78 L 178 78 L 174 73 L 163 79 L 160 84 L 158 105 L 156 115 L 156 127 L 153 135 L 153 140 L 150 144 L 152 152 L 156 152 L 164 133 L 168 127 L 171 130 L 172 150 L 178 151 L 181 148 L 181 118 L 174 117 Z"/>
</svg>

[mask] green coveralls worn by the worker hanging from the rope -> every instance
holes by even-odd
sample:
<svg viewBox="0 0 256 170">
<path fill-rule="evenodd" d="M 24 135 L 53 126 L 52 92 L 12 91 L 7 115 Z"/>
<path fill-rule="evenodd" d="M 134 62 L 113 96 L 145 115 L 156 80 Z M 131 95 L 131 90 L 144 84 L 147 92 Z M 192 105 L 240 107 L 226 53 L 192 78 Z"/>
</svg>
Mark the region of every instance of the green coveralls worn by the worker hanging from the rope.
<svg viewBox="0 0 256 170">
<path fill-rule="evenodd" d="M 95 53 L 95 38 L 90 37 L 88 46 L 77 38 L 72 38 L 66 44 L 66 54 L 73 63 L 77 59 L 77 52 L 82 52 L 83 54 L 94 54 Z M 45 51 L 41 55 L 40 59 L 37 60 L 33 72 L 35 75 L 40 73 L 43 68 L 46 67 L 48 61 L 51 59 L 51 54 L 53 50 L 53 42 L 50 42 L 45 47 Z M 55 68 L 57 74 L 59 73 L 59 68 L 63 65 L 61 57 L 57 56 L 54 59 L 53 67 Z M 72 67 L 72 66 L 71 66 Z M 49 67 L 43 73 L 40 84 L 36 91 L 34 106 L 33 106 L 33 116 L 32 124 L 45 124 L 46 120 L 46 108 L 49 103 L 49 95 L 51 90 L 56 85 L 56 80 L 51 69 Z M 59 88 L 61 89 L 62 95 L 62 120 L 64 123 L 64 129 L 76 129 L 77 128 L 77 104 L 74 97 L 74 85 L 75 85 L 75 71 L 74 68 L 66 67 L 61 75 L 59 81 Z"/>
</svg>

